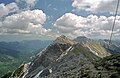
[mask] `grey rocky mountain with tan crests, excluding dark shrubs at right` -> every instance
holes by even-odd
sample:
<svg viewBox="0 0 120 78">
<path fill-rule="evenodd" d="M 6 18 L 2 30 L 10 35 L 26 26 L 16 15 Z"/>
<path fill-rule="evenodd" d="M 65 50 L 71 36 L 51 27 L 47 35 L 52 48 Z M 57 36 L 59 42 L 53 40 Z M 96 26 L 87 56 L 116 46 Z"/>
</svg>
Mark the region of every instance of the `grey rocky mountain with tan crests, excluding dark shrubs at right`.
<svg viewBox="0 0 120 78">
<path fill-rule="evenodd" d="M 90 71 L 91 78 L 96 78 L 94 63 L 107 55 L 110 54 L 97 43 L 76 43 L 62 35 L 28 64 L 22 77 L 16 78 L 81 78 Z"/>
</svg>

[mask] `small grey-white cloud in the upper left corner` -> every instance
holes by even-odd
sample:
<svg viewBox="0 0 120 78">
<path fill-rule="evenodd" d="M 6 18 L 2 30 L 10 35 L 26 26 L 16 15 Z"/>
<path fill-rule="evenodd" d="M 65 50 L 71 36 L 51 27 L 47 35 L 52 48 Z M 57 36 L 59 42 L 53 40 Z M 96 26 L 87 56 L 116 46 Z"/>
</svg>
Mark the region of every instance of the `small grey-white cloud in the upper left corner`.
<svg viewBox="0 0 120 78">
<path fill-rule="evenodd" d="M 19 8 L 15 2 L 5 5 L 4 3 L 0 4 L 0 17 L 8 15 L 11 12 L 18 11 Z"/>
</svg>

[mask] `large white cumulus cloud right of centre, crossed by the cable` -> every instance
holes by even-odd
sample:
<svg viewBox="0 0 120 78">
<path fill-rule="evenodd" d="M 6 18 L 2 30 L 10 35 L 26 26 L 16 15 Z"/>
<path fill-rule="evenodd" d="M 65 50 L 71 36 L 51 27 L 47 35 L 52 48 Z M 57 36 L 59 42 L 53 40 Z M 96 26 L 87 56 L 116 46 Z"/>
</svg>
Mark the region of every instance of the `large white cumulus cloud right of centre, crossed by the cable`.
<svg viewBox="0 0 120 78">
<path fill-rule="evenodd" d="M 113 16 L 89 15 L 81 17 L 72 13 L 66 13 L 56 20 L 54 27 L 59 34 L 66 34 L 71 37 L 79 35 L 89 37 L 109 37 L 113 24 Z M 120 35 L 120 16 L 117 16 L 114 29 L 116 36 Z"/>
</svg>

